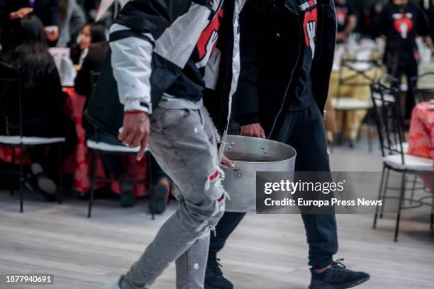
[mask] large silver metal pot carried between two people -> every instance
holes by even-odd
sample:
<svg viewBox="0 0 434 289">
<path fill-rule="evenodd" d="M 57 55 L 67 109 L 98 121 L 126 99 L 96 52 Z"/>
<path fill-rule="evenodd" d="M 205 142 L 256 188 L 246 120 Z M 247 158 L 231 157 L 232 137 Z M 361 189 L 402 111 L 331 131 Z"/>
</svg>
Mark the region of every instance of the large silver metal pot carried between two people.
<svg viewBox="0 0 434 289">
<path fill-rule="evenodd" d="M 236 169 L 223 168 L 228 212 L 255 212 L 256 172 L 294 171 L 296 151 L 282 142 L 228 135 L 225 154 Z"/>
</svg>

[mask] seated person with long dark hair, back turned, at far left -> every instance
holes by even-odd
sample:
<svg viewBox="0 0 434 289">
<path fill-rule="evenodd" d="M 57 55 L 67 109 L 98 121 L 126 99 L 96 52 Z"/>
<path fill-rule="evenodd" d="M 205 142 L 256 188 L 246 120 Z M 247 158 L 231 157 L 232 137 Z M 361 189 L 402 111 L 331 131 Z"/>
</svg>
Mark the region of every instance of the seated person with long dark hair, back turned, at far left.
<svg viewBox="0 0 434 289">
<path fill-rule="evenodd" d="M 66 137 L 68 151 L 73 145 L 74 124 L 64 111 L 60 77 L 48 51 L 43 23 L 35 16 L 25 16 L 14 26 L 13 35 L 13 45 L 4 51 L 1 61 L 18 67 L 21 73 L 23 135 Z M 10 133 L 19 134 L 18 131 Z M 56 184 L 45 171 L 50 173 L 60 169 L 59 159 L 57 150 L 51 155 L 50 149 L 48 152 L 45 149 L 38 146 L 28 149 L 31 170 L 34 185 L 47 200 L 55 200 Z"/>
</svg>

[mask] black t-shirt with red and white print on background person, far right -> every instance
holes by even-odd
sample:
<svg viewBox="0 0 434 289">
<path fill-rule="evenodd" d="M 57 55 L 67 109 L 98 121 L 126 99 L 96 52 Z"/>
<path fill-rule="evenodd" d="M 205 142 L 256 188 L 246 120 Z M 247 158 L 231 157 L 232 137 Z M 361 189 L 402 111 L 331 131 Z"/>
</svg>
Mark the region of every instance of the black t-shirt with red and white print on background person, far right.
<svg viewBox="0 0 434 289">
<path fill-rule="evenodd" d="M 402 60 L 418 60 L 416 38 L 428 36 L 430 26 L 425 13 L 416 4 L 388 4 L 373 21 L 374 28 L 386 36 L 386 55 L 399 53 Z"/>
</svg>

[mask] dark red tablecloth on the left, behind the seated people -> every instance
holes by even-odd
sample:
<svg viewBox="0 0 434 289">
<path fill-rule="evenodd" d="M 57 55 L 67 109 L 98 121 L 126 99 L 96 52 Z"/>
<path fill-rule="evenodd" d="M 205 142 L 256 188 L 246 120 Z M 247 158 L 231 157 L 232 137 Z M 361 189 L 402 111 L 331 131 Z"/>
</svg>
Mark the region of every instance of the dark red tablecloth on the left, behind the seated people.
<svg viewBox="0 0 434 289">
<path fill-rule="evenodd" d="M 73 88 L 64 88 L 65 93 L 65 111 L 69 117 L 74 120 L 75 129 L 77 132 L 77 147 L 74 149 L 71 155 L 67 157 L 65 163 L 62 166 L 62 171 L 67 174 L 74 175 L 74 189 L 76 191 L 87 193 L 90 191 L 90 174 L 91 174 L 91 152 L 86 146 L 86 135 L 82 126 L 82 115 L 84 104 L 86 103 L 86 97 L 76 94 Z M 19 151 L 15 149 L 16 164 L 19 161 Z M 24 162 L 30 164 L 30 159 L 27 154 L 24 154 Z M 9 147 L 0 147 L 0 159 L 4 162 L 11 162 L 12 150 Z M 128 176 L 131 179 L 146 179 L 147 166 L 146 160 L 141 162 L 135 160 L 135 156 L 123 156 L 121 162 L 128 168 Z M 101 159 L 98 160 L 97 176 L 106 176 L 104 166 Z M 96 183 L 96 188 L 106 186 L 106 183 Z M 111 190 L 120 193 L 120 187 L 118 183 L 111 183 Z M 145 196 L 146 186 L 144 184 L 135 185 L 135 196 Z"/>
</svg>

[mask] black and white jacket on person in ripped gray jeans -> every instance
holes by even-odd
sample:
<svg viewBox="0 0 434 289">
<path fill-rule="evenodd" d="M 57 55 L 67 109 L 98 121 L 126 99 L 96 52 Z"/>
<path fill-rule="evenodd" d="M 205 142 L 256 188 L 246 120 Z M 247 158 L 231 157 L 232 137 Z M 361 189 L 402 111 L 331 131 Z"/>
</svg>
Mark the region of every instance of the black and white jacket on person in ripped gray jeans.
<svg viewBox="0 0 434 289">
<path fill-rule="evenodd" d="M 200 63 L 206 88 L 218 89 L 230 115 L 240 73 L 238 16 L 245 1 L 129 1 L 110 29 L 111 51 L 85 112 L 89 122 L 117 135 L 123 111 L 152 113 L 223 5 L 219 45 L 204 52 Z"/>
</svg>

